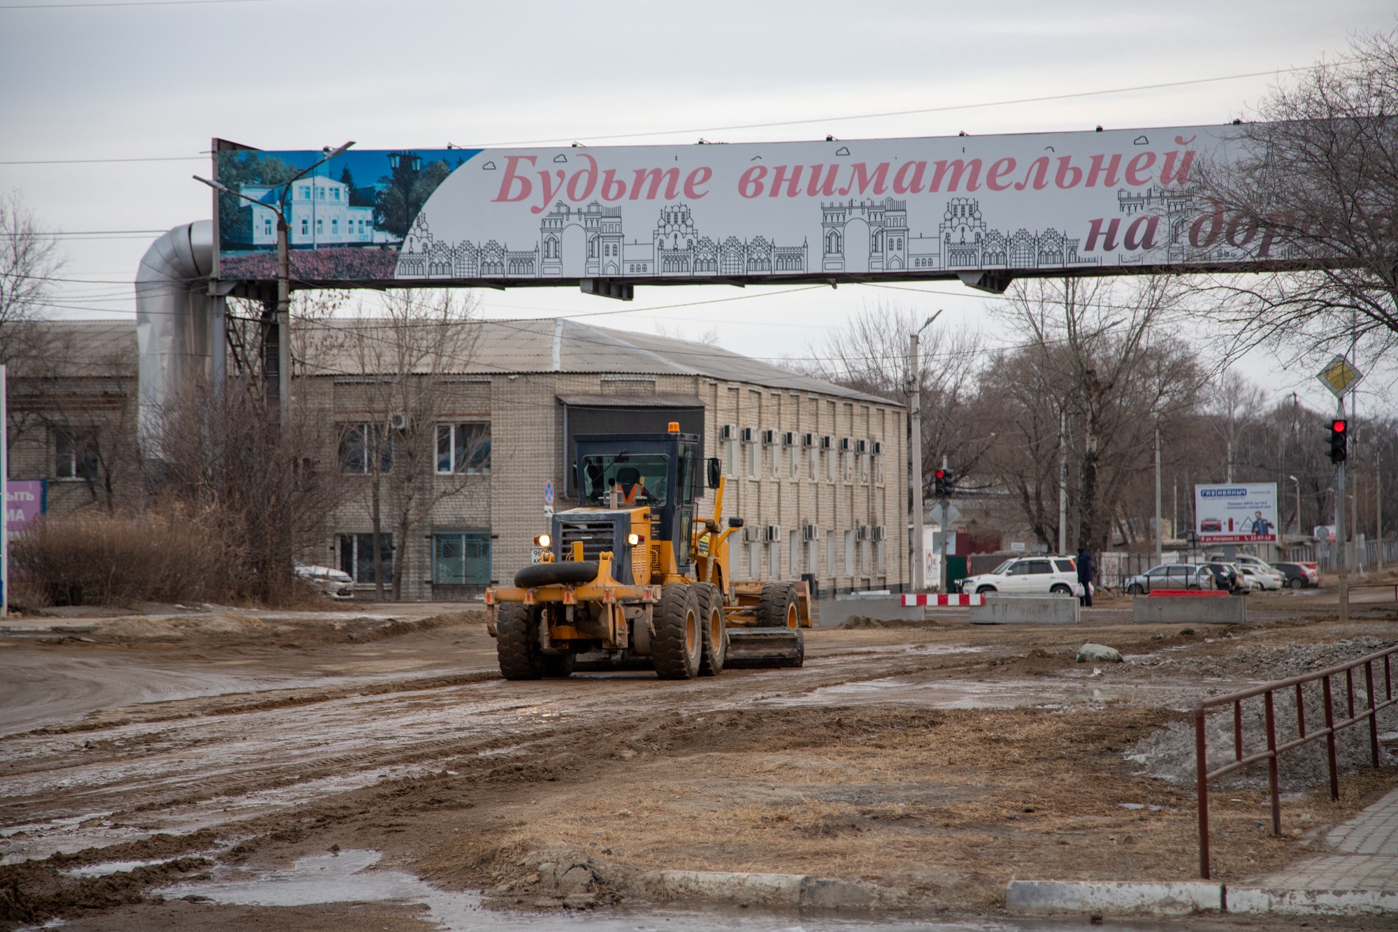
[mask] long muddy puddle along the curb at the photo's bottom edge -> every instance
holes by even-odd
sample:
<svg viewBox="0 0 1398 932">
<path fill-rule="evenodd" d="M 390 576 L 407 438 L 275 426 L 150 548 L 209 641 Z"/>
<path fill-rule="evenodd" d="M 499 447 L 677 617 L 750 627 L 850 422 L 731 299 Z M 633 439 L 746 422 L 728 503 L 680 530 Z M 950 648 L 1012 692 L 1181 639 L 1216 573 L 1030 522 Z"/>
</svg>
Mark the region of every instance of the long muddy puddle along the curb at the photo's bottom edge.
<svg viewBox="0 0 1398 932">
<path fill-rule="evenodd" d="M 291 868 L 259 875 L 238 870 L 239 879 L 212 883 L 189 883 L 159 890 L 166 898 L 207 897 L 214 903 L 238 905 L 315 905 L 319 903 L 398 901 L 404 905 L 425 904 L 426 919 L 452 932 L 513 932 L 524 929 L 579 928 L 596 932 L 709 932 L 724 928 L 735 932 L 1057 932 L 1064 922 L 1026 919 L 1011 921 L 882 921 L 856 919 L 847 915 L 809 915 L 797 910 L 738 910 L 727 905 L 691 905 L 636 908 L 618 907 L 601 911 L 513 912 L 487 910 L 477 893 L 439 890 L 401 870 L 372 869 L 382 855 L 377 851 L 341 851 L 338 855 L 312 855 Z M 245 879 L 243 879 L 245 877 Z M 1081 926 L 1081 919 L 1072 924 Z M 1099 928 L 1131 928 L 1138 924 Z M 1149 926 L 1156 928 L 1156 926 Z"/>
</svg>

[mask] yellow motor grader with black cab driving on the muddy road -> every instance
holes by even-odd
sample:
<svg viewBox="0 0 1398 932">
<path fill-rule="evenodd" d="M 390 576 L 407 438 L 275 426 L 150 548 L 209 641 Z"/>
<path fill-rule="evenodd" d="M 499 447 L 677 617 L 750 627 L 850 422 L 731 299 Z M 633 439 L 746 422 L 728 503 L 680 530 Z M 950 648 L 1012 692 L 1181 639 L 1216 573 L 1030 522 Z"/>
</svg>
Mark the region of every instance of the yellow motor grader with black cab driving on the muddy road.
<svg viewBox="0 0 1398 932">
<path fill-rule="evenodd" d="M 700 474 L 699 437 L 583 434 L 575 438 L 579 507 L 534 539 L 538 563 L 513 586 L 485 592 L 488 630 L 507 680 L 587 669 L 653 668 L 660 679 L 716 676 L 726 666 L 801 666 L 811 627 L 807 585 L 734 582 L 720 526 L 717 459 Z M 703 479 L 713 516 L 696 518 Z"/>
</svg>

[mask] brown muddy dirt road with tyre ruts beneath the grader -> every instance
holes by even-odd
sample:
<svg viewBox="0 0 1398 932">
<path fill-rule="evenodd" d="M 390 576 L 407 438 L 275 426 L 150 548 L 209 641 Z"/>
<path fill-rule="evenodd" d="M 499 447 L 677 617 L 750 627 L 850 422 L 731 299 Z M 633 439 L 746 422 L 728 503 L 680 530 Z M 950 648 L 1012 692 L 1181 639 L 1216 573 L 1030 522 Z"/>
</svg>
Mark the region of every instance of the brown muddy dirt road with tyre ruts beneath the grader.
<svg viewBox="0 0 1398 932">
<path fill-rule="evenodd" d="M 1184 877 L 1192 792 L 1130 760 L 1137 743 L 1201 691 L 1398 640 L 1388 606 L 1342 628 L 1314 602 L 1257 605 L 1260 624 L 1184 634 L 1111 609 L 819 630 L 800 670 L 691 683 L 506 683 L 482 617 L 443 606 L 45 620 L 0 637 L 0 886 L 34 918 L 87 903 L 77 928 L 157 928 L 186 907 L 127 903 L 143 889 L 327 849 L 526 910 L 636 903 L 656 869 L 856 877 L 879 908 L 984 915 L 1011 876 Z M 1075 663 L 1083 641 L 1128 662 Z M 1346 777 L 1338 806 L 1296 793 L 1281 840 L 1240 788 L 1215 814 L 1220 872 L 1304 852 L 1392 778 Z M 257 908 L 203 904 L 200 922 Z M 306 928 L 422 922 L 296 908 L 320 917 Z"/>
</svg>

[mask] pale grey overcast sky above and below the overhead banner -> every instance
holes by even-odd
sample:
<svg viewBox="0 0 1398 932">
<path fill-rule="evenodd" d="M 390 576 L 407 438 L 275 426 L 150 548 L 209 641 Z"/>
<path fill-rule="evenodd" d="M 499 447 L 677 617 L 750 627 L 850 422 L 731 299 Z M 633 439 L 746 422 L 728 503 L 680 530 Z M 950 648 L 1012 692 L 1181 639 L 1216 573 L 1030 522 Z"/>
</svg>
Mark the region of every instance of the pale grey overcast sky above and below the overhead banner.
<svg viewBox="0 0 1398 932">
<path fill-rule="evenodd" d="M 211 137 L 259 148 L 480 146 L 526 140 L 692 143 L 942 136 L 1223 123 L 1278 73 L 1391 29 L 1391 0 L 1023 3 L 466 3 L 0 0 L 0 189 L 66 231 L 52 313 L 131 315 L 150 231 L 210 216 Z M 1148 91 L 1004 104 L 1248 73 Z M 853 119 L 889 111 L 942 112 Z M 812 120 L 742 130 L 717 127 Z M 681 130 L 661 134 L 665 130 Z M 46 160 L 172 160 L 15 164 Z M 186 160 L 186 161 L 178 161 Z M 629 305 L 569 288 L 487 292 L 489 316 L 583 318 L 758 357 L 807 355 L 865 302 L 1015 334 L 984 295 L 649 287 Z M 758 295 L 758 297 L 749 297 Z M 741 301 L 654 309 L 713 298 Z M 1199 339 L 1208 340 L 1201 326 Z M 1323 392 L 1262 354 L 1241 368 L 1274 392 Z M 1380 381 L 1370 383 L 1380 392 Z M 1391 381 L 1383 381 L 1391 388 Z M 1370 404 L 1377 404 L 1371 397 Z M 1364 402 L 1362 400 L 1362 410 Z"/>
</svg>

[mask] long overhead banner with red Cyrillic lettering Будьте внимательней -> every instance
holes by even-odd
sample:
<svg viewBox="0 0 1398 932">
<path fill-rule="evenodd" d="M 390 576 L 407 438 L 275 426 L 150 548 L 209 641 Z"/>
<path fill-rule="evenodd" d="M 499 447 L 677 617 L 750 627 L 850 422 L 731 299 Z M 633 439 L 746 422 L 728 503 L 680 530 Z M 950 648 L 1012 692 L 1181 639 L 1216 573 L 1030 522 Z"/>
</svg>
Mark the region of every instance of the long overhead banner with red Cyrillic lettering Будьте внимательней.
<svg viewBox="0 0 1398 932">
<path fill-rule="evenodd" d="M 221 278 L 868 281 L 1278 259 L 1195 203 L 1233 126 L 695 146 L 217 151 Z"/>
</svg>

